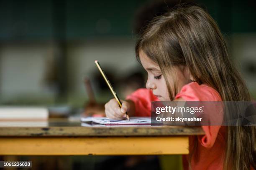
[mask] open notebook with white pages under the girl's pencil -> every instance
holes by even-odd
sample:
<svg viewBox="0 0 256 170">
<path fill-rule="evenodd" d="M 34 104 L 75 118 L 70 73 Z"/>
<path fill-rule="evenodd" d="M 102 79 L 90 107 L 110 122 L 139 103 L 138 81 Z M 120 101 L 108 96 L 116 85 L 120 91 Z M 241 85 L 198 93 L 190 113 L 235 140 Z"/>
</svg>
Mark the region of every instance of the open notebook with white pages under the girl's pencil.
<svg viewBox="0 0 256 170">
<path fill-rule="evenodd" d="M 81 117 L 82 122 L 94 122 L 103 125 L 150 125 L 151 117 L 130 117 L 130 120 L 109 119 L 107 117 Z"/>
</svg>

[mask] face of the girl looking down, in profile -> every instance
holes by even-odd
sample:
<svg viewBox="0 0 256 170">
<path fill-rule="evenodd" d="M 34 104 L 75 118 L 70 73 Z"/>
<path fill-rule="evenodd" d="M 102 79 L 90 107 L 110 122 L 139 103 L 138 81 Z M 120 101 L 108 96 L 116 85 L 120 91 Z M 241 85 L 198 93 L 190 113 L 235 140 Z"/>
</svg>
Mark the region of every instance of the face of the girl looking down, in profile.
<svg viewBox="0 0 256 170">
<path fill-rule="evenodd" d="M 140 52 L 139 57 L 140 57 L 142 66 L 148 73 L 146 88 L 151 89 L 153 94 L 156 97 L 158 97 L 159 100 L 162 100 L 162 101 L 170 100 L 168 89 L 166 86 L 166 81 L 164 79 L 164 76 L 162 75 L 159 65 L 156 64 L 154 61 L 152 61 L 150 58 L 148 58 L 148 56 L 143 51 Z M 177 73 L 177 77 L 179 81 L 173 82 L 174 80 L 170 79 L 169 82 L 176 83 L 178 91 L 180 91 L 184 85 L 191 82 L 191 80 L 193 79 L 191 79 L 192 77 L 186 66 L 184 66 L 182 69 L 180 67 L 174 66 L 174 70 Z M 172 89 L 172 92 L 174 92 L 174 89 Z"/>
</svg>

